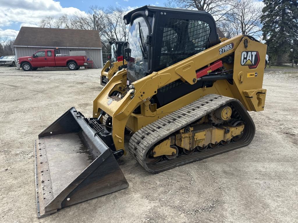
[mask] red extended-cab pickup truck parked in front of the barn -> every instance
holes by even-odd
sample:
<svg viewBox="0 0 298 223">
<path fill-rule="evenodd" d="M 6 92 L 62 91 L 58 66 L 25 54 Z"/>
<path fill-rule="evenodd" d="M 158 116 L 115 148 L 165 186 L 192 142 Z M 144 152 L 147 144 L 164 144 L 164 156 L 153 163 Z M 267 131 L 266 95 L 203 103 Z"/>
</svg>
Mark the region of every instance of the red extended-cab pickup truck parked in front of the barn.
<svg viewBox="0 0 298 223">
<path fill-rule="evenodd" d="M 56 56 L 57 50 L 39 50 L 32 56 L 18 58 L 24 71 L 37 70 L 39 67 L 68 67 L 78 70 L 87 65 L 87 56 Z"/>
</svg>

